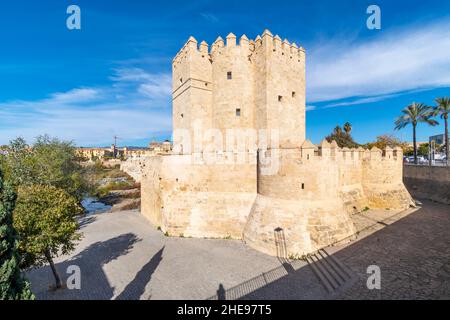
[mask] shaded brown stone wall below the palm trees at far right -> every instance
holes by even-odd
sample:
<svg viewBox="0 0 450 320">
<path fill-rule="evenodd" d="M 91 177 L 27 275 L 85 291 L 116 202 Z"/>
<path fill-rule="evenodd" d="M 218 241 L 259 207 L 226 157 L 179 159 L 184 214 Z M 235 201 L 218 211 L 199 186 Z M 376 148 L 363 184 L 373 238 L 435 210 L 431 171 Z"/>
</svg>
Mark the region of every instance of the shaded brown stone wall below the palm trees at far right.
<svg viewBox="0 0 450 320">
<path fill-rule="evenodd" d="M 404 165 L 403 182 L 415 198 L 450 204 L 450 167 Z"/>
</svg>

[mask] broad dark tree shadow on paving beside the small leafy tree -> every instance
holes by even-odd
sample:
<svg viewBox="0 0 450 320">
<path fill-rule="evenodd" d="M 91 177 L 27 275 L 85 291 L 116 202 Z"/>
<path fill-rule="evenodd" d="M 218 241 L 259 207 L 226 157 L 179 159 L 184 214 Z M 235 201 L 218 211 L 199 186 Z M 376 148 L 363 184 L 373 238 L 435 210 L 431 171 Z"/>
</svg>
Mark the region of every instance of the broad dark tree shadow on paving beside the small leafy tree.
<svg viewBox="0 0 450 320">
<path fill-rule="evenodd" d="M 81 289 L 61 289 L 49 291 L 54 283 L 49 266 L 43 266 L 28 272 L 32 290 L 38 299 L 111 299 L 114 287 L 111 287 L 103 266 L 130 252 L 136 242 L 140 241 L 133 233 L 122 234 L 106 241 L 99 241 L 72 257 L 56 264 L 62 282 L 66 283 L 66 273 L 70 265 L 76 265 L 81 271 Z"/>
</svg>

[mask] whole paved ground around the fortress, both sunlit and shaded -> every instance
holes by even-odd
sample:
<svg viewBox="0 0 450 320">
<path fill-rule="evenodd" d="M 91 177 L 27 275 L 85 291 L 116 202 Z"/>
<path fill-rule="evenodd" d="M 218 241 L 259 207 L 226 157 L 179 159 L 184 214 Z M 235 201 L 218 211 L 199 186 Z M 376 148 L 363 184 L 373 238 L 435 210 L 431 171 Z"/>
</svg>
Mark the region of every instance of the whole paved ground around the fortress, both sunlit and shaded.
<svg viewBox="0 0 450 320">
<path fill-rule="evenodd" d="M 56 260 L 64 279 L 68 266 L 80 267 L 80 290 L 49 290 L 48 266 L 27 276 L 38 299 L 450 298 L 449 206 L 353 219 L 358 241 L 327 248 L 331 260 L 288 262 L 241 241 L 164 237 L 137 211 L 103 213 L 84 218 L 76 251 Z M 334 274 L 335 262 L 345 272 L 330 291 L 320 274 Z M 366 287 L 369 265 L 381 269 L 381 290 Z"/>
</svg>

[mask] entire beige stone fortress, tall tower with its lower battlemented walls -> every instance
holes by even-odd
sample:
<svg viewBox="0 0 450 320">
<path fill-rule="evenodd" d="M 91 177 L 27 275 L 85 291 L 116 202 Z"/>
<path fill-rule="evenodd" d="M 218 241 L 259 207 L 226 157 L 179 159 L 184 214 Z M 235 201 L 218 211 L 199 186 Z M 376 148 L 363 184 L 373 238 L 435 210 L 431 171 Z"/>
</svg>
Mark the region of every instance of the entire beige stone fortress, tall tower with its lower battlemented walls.
<svg viewBox="0 0 450 320">
<path fill-rule="evenodd" d="M 172 67 L 174 152 L 148 157 L 141 179 L 141 212 L 163 232 L 242 239 L 271 255 L 283 239 L 284 252 L 303 255 L 353 237 L 353 213 L 412 203 L 401 149 L 305 139 L 297 45 L 267 30 L 255 40 L 230 33 L 210 47 L 191 37 Z M 230 150 L 228 141 L 198 148 L 209 132 L 228 140 L 238 130 L 270 134 L 270 150 Z M 186 141 L 176 140 L 179 131 Z"/>
</svg>

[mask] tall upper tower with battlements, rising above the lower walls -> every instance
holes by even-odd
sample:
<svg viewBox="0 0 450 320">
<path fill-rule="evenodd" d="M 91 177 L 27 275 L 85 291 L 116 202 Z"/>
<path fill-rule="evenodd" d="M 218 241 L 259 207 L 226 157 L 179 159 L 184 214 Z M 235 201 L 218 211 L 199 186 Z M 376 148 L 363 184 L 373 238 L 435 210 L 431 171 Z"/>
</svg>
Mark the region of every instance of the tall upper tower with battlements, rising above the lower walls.
<svg viewBox="0 0 450 320">
<path fill-rule="evenodd" d="M 278 131 L 279 148 L 305 140 L 305 52 L 268 30 L 236 41 L 218 37 L 209 50 L 189 38 L 172 64 L 173 128 Z M 175 141 L 175 144 L 177 142 Z M 190 153 L 184 150 L 183 153 Z"/>
</svg>

